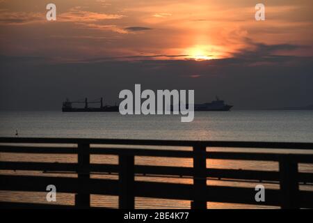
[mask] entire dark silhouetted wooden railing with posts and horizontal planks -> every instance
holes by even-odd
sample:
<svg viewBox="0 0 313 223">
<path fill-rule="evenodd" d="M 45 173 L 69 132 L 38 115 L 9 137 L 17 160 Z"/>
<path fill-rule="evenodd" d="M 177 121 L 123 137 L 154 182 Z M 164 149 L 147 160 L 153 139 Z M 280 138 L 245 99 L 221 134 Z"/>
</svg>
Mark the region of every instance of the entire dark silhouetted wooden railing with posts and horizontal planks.
<svg viewBox="0 0 313 223">
<path fill-rule="evenodd" d="M 25 144 L 31 144 L 26 146 Z M 38 145 L 36 145 L 38 144 Z M 42 146 L 58 144 L 58 147 Z M 76 144 L 70 148 L 64 144 Z M 91 144 L 111 145 L 93 148 Z M 142 148 L 131 146 L 190 146 L 193 151 Z M 248 141 L 162 141 L 131 139 L 56 139 L 56 138 L 0 138 L 0 153 L 77 154 L 77 163 L 0 162 L 0 170 L 70 171 L 77 178 L 51 176 L 0 175 L 0 190 L 46 192 L 53 182 L 57 192 L 75 195 L 75 206 L 53 206 L 35 203 L 1 202 L 4 208 L 90 208 L 90 194 L 119 197 L 119 208 L 134 208 L 135 197 L 190 200 L 191 208 L 207 208 L 207 201 L 280 206 L 282 208 L 313 208 L 313 192 L 299 190 L 299 183 L 313 183 L 313 173 L 298 171 L 299 163 L 312 164 L 312 154 L 300 153 L 243 153 L 207 151 L 208 147 L 276 148 L 313 150 L 310 143 L 248 142 Z M 92 164 L 90 155 L 118 155 L 118 164 Z M 163 167 L 135 165 L 134 157 L 193 158 L 193 167 Z M 279 162 L 279 171 L 207 168 L 207 159 L 263 160 Z M 90 173 L 116 173 L 118 180 L 90 178 Z M 193 185 L 135 180 L 136 174 L 157 176 L 189 176 Z M 255 201 L 255 188 L 207 185 L 207 178 L 274 181 L 280 190 L 266 189 L 266 200 Z"/>
</svg>

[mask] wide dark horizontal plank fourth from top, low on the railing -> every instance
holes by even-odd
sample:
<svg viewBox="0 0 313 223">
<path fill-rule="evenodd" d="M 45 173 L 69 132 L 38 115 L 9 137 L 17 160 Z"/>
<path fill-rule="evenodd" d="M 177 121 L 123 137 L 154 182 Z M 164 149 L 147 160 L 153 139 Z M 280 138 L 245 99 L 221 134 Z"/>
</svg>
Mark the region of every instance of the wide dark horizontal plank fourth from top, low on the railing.
<svg viewBox="0 0 313 223">
<path fill-rule="evenodd" d="M 90 194 L 118 195 L 118 180 L 90 179 L 88 185 L 78 188 L 77 178 L 59 178 L 42 176 L 0 176 L 0 190 L 46 192 L 51 182 L 56 185 L 58 192 L 77 193 L 83 189 Z M 154 183 L 136 181 L 134 185 L 136 197 L 151 197 L 159 199 L 194 200 L 202 199 L 213 202 L 247 203 L 255 205 L 280 206 L 279 190 L 266 189 L 266 202 L 255 201 L 255 189 L 245 187 L 207 186 L 204 191 L 193 194 L 193 185 L 179 183 Z M 300 207 L 311 207 L 312 192 L 300 192 Z"/>
</svg>

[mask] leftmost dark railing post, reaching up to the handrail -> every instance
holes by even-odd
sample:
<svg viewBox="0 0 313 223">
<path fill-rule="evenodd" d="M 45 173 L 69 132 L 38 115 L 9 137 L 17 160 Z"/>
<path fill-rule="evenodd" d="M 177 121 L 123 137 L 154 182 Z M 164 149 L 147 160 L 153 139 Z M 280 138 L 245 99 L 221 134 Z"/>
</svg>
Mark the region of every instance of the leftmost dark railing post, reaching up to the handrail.
<svg viewBox="0 0 313 223">
<path fill-rule="evenodd" d="M 78 144 L 78 182 L 79 192 L 75 194 L 77 208 L 90 208 L 90 194 L 86 192 L 90 179 L 90 145 Z"/>
</svg>

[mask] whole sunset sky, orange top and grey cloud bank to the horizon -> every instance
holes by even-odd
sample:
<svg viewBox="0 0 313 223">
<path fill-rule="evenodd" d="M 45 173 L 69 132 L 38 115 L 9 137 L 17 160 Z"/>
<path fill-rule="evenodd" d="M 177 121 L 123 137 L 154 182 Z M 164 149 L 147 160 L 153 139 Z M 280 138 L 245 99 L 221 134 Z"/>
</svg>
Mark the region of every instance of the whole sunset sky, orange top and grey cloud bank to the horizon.
<svg viewBox="0 0 313 223">
<path fill-rule="evenodd" d="M 312 9 L 311 0 L 0 0 L 0 109 L 113 104 L 134 84 L 194 89 L 195 102 L 218 95 L 234 109 L 310 105 Z"/>
</svg>

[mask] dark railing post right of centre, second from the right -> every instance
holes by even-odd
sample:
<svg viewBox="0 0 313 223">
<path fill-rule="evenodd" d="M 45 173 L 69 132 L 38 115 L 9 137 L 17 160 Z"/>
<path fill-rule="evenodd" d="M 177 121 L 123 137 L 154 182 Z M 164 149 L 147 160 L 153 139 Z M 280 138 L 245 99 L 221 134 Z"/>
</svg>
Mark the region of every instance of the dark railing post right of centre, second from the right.
<svg viewBox="0 0 313 223">
<path fill-rule="evenodd" d="M 207 187 L 207 147 L 198 144 L 193 146 L 193 191 L 195 200 L 191 201 L 192 209 L 207 209 L 207 201 L 202 200 L 202 192 Z"/>
</svg>

